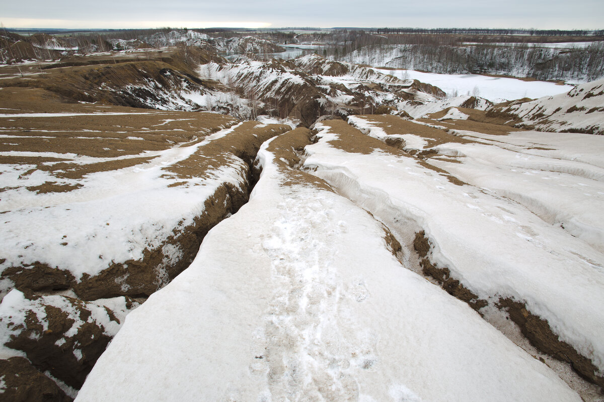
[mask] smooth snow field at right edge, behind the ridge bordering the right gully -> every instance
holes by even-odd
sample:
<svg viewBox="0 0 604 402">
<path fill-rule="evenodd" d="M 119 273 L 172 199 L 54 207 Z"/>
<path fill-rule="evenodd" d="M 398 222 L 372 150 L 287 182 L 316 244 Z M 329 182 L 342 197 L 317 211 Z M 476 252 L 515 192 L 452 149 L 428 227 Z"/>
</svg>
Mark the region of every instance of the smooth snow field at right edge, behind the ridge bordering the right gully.
<svg viewBox="0 0 604 402">
<path fill-rule="evenodd" d="M 463 119 L 454 110 L 437 120 Z M 466 183 L 513 199 L 545 222 L 604 252 L 603 136 L 539 131 L 496 136 L 451 129 L 477 142 L 429 147 L 418 135 L 392 134 L 396 128 L 387 128 L 391 132 L 386 133 L 371 117 L 350 116 L 349 122 L 379 139 L 400 136 L 406 151 L 434 149 L 451 157 L 430 163 Z"/>
</svg>

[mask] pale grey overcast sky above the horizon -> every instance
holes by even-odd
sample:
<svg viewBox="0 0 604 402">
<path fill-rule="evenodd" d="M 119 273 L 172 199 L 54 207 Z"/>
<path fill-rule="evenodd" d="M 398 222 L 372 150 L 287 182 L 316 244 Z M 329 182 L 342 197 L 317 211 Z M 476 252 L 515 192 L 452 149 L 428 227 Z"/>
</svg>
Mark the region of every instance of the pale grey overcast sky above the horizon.
<svg viewBox="0 0 604 402">
<path fill-rule="evenodd" d="M 0 0 L 8 28 L 603 29 L 604 0 Z"/>
</svg>

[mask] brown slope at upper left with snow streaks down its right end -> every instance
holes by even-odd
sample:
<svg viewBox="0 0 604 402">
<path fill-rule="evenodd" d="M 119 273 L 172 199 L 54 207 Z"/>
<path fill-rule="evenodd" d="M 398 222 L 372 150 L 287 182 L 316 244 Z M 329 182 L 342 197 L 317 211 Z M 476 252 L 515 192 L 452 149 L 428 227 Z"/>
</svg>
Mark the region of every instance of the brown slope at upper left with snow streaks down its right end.
<svg viewBox="0 0 604 402">
<path fill-rule="evenodd" d="M 249 102 L 223 92 L 215 82 L 199 80 L 194 68 L 208 61 L 225 62 L 212 52 L 177 48 L 162 52 L 94 54 L 59 63 L 28 64 L 4 77 L 4 87 L 37 87 L 72 102 L 101 102 L 160 110 L 208 110 L 249 118 Z"/>
</svg>

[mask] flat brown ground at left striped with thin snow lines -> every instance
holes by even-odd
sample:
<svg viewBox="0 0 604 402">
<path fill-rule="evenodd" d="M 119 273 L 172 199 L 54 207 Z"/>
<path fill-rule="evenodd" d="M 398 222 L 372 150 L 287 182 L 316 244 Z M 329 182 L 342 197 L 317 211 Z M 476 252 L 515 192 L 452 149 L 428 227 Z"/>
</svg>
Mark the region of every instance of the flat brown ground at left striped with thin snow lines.
<svg viewBox="0 0 604 402">
<path fill-rule="evenodd" d="M 41 89 L 10 87 L 0 90 L 1 114 L 13 113 L 132 113 L 129 115 L 85 115 L 54 117 L 4 117 L 0 114 L 0 152 L 71 153 L 62 157 L 1 155 L 0 163 L 28 165 L 23 177 L 37 169 L 57 179 L 78 179 L 86 174 L 111 171 L 149 162 L 138 156 L 144 151 L 161 151 L 236 124 L 230 116 L 185 111 L 149 111 L 139 108 L 64 103 L 60 96 Z M 18 111 L 6 110 L 21 108 Z M 171 120 L 171 121 L 170 121 Z M 130 137 L 130 138 L 128 138 Z M 106 158 L 99 162 L 74 163 L 82 156 Z M 115 159 L 126 157 L 125 159 Z M 77 186 L 31 187 L 37 192 L 65 191 Z"/>
</svg>

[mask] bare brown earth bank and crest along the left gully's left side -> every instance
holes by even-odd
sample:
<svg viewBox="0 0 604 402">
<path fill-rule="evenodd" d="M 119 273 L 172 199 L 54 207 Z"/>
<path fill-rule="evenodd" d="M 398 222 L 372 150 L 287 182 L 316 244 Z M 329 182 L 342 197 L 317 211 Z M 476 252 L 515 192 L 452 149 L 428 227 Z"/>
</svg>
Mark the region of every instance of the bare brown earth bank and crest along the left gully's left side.
<svg viewBox="0 0 604 402">
<path fill-rule="evenodd" d="M 171 187 L 175 187 L 186 186 L 187 178 L 211 175 L 214 169 L 220 168 L 220 166 L 240 163 L 244 167 L 240 178 L 241 186 L 235 186 L 232 183 L 221 184 L 213 195 L 205 200 L 204 208 L 198 216 L 194 217 L 193 224 L 181 230 L 174 230 L 169 237 L 162 240 L 159 247 L 144 250 L 142 259 L 112 262 L 108 268 L 98 275 L 85 274 L 79 279 L 74 278 L 61 267 L 48 266 L 43 262 L 10 266 L 4 269 L 2 276 L 13 281 L 14 286 L 18 289 L 28 289 L 30 291 L 72 289 L 84 300 L 120 295 L 129 295 L 130 297 L 149 296 L 165 285 L 165 278 L 172 280 L 187 268 L 210 228 L 226 216 L 236 212 L 246 203 L 253 185 L 250 166 L 260 145 L 265 140 L 289 130 L 288 125 L 260 125 L 258 122 L 245 122 L 232 133 L 199 146 L 197 151 L 187 159 L 162 168 L 162 171 L 164 171 L 162 177 L 182 180 L 171 185 Z M 137 142 L 135 145 L 143 143 L 140 140 L 134 141 Z M 169 144 L 165 143 L 164 146 L 167 147 Z M 136 151 L 140 150 L 135 149 Z M 236 162 L 236 160 L 243 161 L 243 163 Z M 91 172 L 99 171 L 98 169 L 117 170 L 128 166 L 127 159 L 120 159 L 115 162 L 117 163 L 115 166 L 98 166 L 103 165 L 103 163 L 94 163 L 88 166 L 76 164 L 77 166 L 74 166 L 74 169 L 70 169 L 71 166 L 68 162 L 59 162 L 41 167 L 42 170 L 56 172 L 57 180 L 65 177 L 77 179 Z M 141 161 L 137 159 L 137 162 Z M 33 169 L 33 171 L 36 170 L 36 168 Z M 56 184 L 47 183 L 44 188 L 32 187 L 28 190 L 36 192 L 68 190 L 55 187 L 57 187 Z M 69 190 L 73 187 L 70 187 Z M 174 245 L 182 251 L 182 256 L 177 261 L 169 264 L 165 263 L 165 260 L 170 260 L 167 259 L 164 253 L 167 245 Z"/>
</svg>

